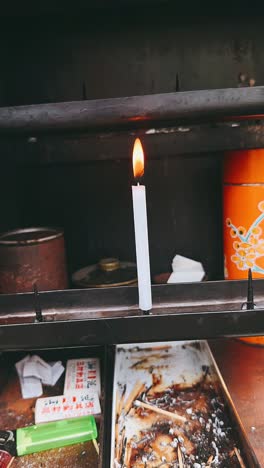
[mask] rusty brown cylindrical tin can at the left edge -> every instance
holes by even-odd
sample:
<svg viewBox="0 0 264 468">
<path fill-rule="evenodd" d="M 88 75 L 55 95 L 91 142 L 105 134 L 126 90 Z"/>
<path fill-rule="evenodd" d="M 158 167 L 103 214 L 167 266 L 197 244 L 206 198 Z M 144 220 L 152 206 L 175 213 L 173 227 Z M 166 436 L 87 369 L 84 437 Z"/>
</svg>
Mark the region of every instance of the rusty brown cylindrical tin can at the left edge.
<svg viewBox="0 0 264 468">
<path fill-rule="evenodd" d="M 65 289 L 64 234 L 50 227 L 16 229 L 0 235 L 0 293 Z"/>
</svg>

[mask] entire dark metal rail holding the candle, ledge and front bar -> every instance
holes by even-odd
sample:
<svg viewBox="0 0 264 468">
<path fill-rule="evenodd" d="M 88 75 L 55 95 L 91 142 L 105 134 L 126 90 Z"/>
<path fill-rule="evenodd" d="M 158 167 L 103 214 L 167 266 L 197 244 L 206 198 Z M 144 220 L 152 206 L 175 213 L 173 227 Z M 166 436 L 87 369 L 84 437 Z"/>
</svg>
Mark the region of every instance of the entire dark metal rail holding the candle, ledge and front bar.
<svg viewBox="0 0 264 468">
<path fill-rule="evenodd" d="M 245 281 L 153 286 L 152 315 L 138 309 L 137 288 L 0 296 L 0 349 L 37 349 L 264 334 L 263 280 L 255 310 L 242 310 Z"/>
</svg>

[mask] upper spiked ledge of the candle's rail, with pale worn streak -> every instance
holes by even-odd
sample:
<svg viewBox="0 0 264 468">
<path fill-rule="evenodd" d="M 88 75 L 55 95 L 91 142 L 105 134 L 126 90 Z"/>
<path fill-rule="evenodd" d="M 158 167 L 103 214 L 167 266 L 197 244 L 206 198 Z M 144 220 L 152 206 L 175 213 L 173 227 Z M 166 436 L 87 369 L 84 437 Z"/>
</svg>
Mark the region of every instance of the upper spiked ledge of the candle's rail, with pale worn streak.
<svg viewBox="0 0 264 468">
<path fill-rule="evenodd" d="M 254 301 L 264 304 L 264 280 L 254 280 Z M 239 310 L 247 297 L 247 281 L 205 281 L 201 283 L 152 286 L 153 313 L 196 310 Z M 127 286 L 105 289 L 72 289 L 39 293 L 46 321 L 98 319 L 140 315 L 138 289 Z M 259 306 L 259 307 L 260 307 Z M 33 293 L 1 294 L 0 325 L 34 322 Z"/>
</svg>

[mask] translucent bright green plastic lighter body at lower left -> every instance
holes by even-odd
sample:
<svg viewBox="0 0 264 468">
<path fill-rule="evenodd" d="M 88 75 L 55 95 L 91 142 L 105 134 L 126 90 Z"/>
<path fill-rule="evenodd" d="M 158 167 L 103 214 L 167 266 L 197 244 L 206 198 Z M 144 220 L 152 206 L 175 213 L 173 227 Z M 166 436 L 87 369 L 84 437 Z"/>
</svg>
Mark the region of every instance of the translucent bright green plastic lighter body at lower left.
<svg viewBox="0 0 264 468">
<path fill-rule="evenodd" d="M 96 439 L 97 427 L 93 416 L 63 419 L 16 431 L 17 455 L 41 452 L 66 445 Z"/>
</svg>

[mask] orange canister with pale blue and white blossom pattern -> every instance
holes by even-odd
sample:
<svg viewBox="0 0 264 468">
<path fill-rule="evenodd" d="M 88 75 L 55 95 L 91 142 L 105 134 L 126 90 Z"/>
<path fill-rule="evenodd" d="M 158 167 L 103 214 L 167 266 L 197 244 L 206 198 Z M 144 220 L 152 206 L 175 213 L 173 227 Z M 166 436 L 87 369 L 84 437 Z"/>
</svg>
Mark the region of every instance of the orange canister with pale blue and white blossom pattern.
<svg viewBox="0 0 264 468">
<path fill-rule="evenodd" d="M 226 153 L 223 217 L 225 279 L 264 278 L 264 149 Z"/>
</svg>

